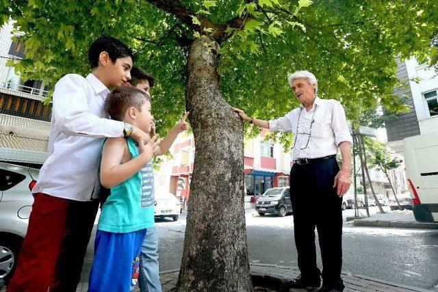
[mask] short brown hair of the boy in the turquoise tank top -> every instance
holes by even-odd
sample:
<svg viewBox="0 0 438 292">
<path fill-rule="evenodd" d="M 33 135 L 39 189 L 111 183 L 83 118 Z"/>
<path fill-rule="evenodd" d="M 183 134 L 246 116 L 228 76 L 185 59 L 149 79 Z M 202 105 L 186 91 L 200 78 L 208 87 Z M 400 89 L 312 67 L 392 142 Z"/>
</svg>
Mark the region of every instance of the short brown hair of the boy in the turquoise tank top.
<svg viewBox="0 0 438 292">
<path fill-rule="evenodd" d="M 105 101 L 105 111 L 110 114 L 113 120 L 123 121 L 129 107 L 135 107 L 141 111 L 145 101 L 151 101 L 151 96 L 146 92 L 133 86 L 122 85 L 108 94 Z"/>
</svg>

